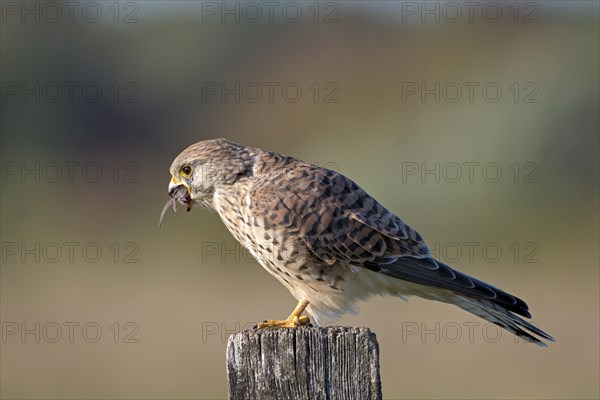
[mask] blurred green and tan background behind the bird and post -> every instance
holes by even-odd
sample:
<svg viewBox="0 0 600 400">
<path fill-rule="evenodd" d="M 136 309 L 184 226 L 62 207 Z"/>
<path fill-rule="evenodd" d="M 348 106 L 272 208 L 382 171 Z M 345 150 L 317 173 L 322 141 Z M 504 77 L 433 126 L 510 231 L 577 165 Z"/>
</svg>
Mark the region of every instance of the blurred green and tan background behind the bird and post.
<svg viewBox="0 0 600 400">
<path fill-rule="evenodd" d="M 600 396 L 597 2 L 53 4 L 1 4 L 2 398 L 226 397 L 228 335 L 295 301 L 216 214 L 158 229 L 213 137 L 351 177 L 557 338 L 373 299 L 338 323 L 386 398 Z"/>
</svg>

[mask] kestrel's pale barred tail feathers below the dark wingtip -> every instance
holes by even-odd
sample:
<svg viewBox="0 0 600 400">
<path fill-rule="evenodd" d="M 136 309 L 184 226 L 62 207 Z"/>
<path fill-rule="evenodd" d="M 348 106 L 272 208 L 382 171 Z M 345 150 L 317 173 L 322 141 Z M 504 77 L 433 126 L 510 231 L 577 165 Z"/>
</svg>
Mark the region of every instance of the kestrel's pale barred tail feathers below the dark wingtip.
<svg viewBox="0 0 600 400">
<path fill-rule="evenodd" d="M 506 329 L 527 342 L 547 347 L 546 343 L 542 342 L 533 334 L 554 342 L 554 338 L 546 332 L 490 300 L 457 294 L 453 303 L 463 310 Z"/>
</svg>

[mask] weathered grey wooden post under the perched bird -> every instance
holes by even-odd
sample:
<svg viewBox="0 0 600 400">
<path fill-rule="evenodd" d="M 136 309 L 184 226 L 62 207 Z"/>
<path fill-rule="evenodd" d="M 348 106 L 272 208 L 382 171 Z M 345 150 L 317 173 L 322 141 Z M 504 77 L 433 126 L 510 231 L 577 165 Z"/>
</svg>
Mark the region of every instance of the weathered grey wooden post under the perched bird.
<svg viewBox="0 0 600 400">
<path fill-rule="evenodd" d="M 247 330 L 227 343 L 230 400 L 381 399 L 379 345 L 367 328 Z"/>
</svg>

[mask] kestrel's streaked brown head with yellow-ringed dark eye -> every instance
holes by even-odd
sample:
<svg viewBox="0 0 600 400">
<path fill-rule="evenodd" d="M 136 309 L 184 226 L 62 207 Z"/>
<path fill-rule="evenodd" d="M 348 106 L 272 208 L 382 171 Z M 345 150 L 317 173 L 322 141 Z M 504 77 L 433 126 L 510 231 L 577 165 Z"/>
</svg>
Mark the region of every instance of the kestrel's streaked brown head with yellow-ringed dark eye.
<svg viewBox="0 0 600 400">
<path fill-rule="evenodd" d="M 169 196 L 188 208 L 193 203 L 211 206 L 216 190 L 251 175 L 253 150 L 225 139 L 189 146 L 171 164 Z"/>
</svg>

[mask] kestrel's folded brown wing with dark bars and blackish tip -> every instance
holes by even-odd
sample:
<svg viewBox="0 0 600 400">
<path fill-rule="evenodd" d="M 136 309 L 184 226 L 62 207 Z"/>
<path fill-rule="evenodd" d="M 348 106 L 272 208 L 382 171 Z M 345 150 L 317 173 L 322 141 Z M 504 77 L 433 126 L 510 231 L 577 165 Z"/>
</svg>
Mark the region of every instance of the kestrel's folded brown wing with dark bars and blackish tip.
<svg viewBox="0 0 600 400">
<path fill-rule="evenodd" d="M 335 171 L 291 165 L 259 182 L 252 196 L 267 224 L 297 234 L 325 264 L 352 264 L 530 316 L 521 299 L 435 260 L 419 233 Z"/>
</svg>

